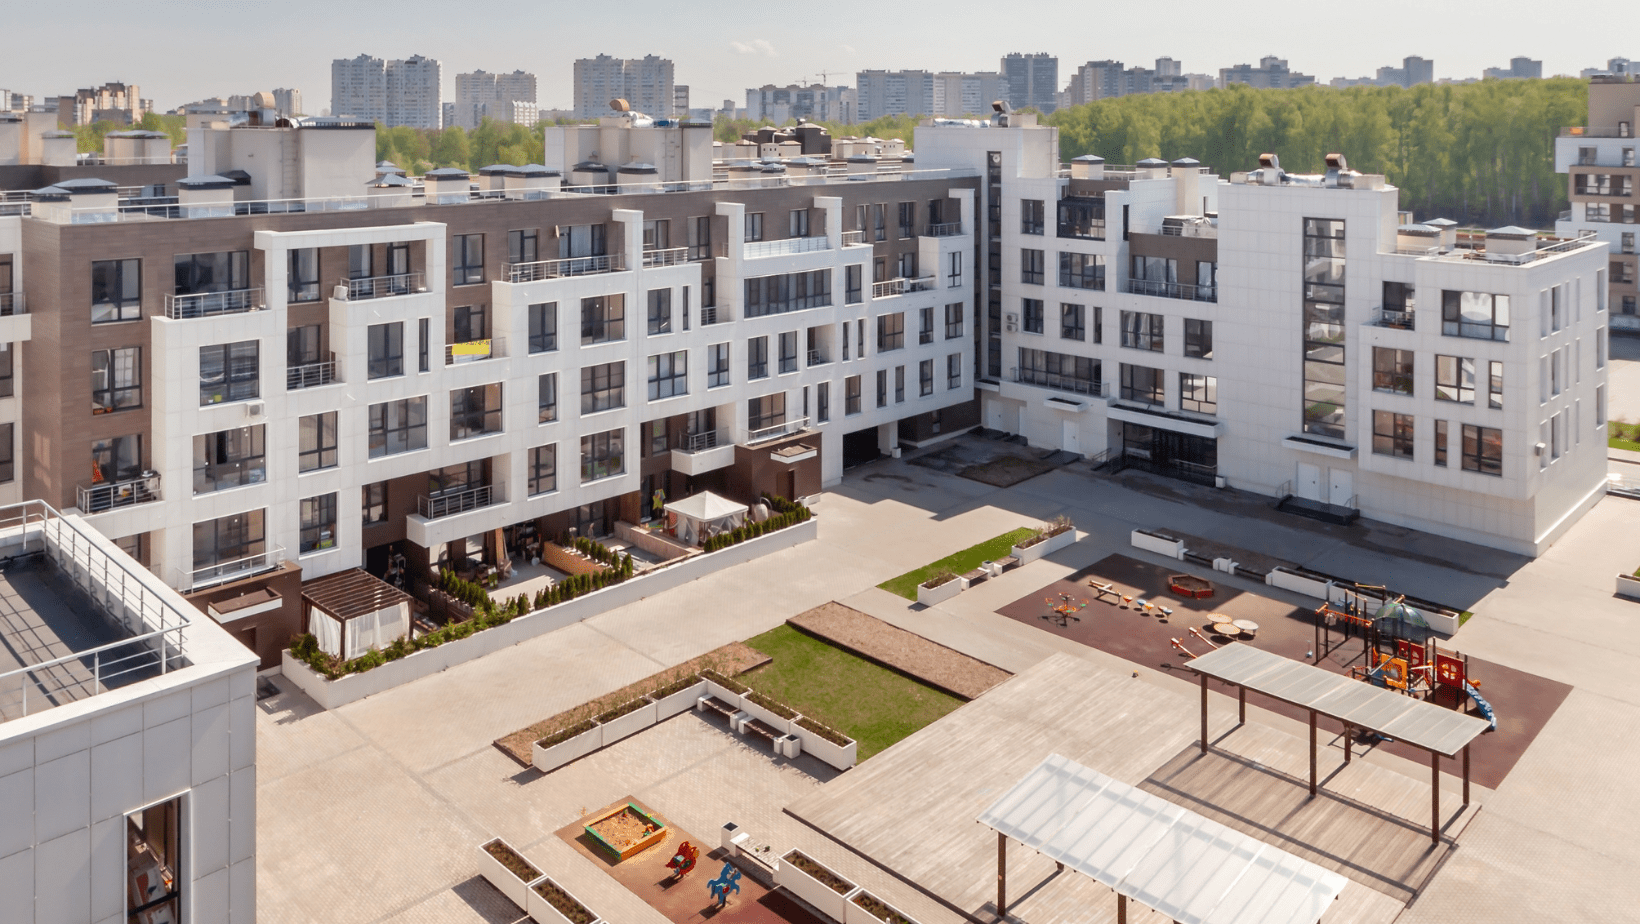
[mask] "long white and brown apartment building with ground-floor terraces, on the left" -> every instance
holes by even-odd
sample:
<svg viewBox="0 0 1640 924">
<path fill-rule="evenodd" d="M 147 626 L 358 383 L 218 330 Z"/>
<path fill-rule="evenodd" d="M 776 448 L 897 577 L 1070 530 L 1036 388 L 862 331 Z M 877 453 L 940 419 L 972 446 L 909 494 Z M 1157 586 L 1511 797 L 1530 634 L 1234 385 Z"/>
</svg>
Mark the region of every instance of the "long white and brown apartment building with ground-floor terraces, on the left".
<svg viewBox="0 0 1640 924">
<path fill-rule="evenodd" d="M 561 171 L 413 185 L 367 123 L 202 123 L 171 202 L 36 192 L 0 218 L 41 325 L 5 335 L 13 481 L 200 606 L 271 589 L 228 624 L 271 666 L 302 581 L 809 496 L 977 422 L 971 171 L 713 176 L 708 126 L 571 128 Z"/>
</svg>

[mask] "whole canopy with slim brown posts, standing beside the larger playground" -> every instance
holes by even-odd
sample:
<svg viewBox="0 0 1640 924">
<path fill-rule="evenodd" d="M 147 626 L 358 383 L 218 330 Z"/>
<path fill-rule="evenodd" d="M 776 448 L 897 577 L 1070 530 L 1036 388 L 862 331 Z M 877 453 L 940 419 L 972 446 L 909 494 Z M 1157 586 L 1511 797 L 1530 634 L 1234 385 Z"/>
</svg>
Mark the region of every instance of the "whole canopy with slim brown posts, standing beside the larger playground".
<svg viewBox="0 0 1640 924">
<path fill-rule="evenodd" d="M 1261 693 L 1309 712 L 1310 796 L 1317 791 L 1315 720 L 1343 725 L 1343 760 L 1351 758 L 1351 729 L 1378 732 L 1430 755 L 1430 844 L 1440 844 L 1440 758 L 1463 757 L 1463 804 L 1469 804 L 1469 745 L 1489 722 L 1442 709 L 1263 648 L 1232 642 L 1186 665 L 1202 683 L 1202 753 L 1207 753 L 1207 678 L 1235 684 L 1240 720 L 1246 724 L 1246 691 Z"/>
</svg>

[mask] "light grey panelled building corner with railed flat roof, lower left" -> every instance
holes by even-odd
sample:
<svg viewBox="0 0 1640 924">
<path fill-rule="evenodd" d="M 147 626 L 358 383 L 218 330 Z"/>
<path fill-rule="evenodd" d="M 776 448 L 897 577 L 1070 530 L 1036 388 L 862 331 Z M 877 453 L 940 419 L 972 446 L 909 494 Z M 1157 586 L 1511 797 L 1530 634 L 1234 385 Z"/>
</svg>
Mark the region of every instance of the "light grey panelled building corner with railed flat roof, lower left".
<svg viewBox="0 0 1640 924">
<path fill-rule="evenodd" d="M 254 924 L 256 656 L 84 517 L 0 524 L 5 921 Z"/>
</svg>

